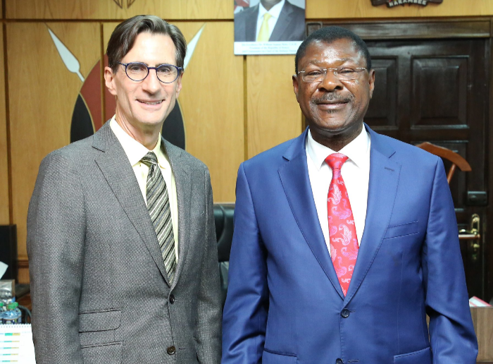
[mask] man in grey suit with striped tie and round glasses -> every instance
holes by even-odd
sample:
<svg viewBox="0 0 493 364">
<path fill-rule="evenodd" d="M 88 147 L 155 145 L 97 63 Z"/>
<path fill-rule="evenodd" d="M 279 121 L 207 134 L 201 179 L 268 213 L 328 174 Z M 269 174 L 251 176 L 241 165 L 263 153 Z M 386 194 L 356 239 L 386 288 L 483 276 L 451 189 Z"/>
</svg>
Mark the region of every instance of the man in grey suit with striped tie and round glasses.
<svg viewBox="0 0 493 364">
<path fill-rule="evenodd" d="M 186 42 L 136 16 L 108 42 L 116 116 L 44 158 L 27 217 L 37 364 L 220 362 L 207 167 L 161 138 Z"/>
</svg>

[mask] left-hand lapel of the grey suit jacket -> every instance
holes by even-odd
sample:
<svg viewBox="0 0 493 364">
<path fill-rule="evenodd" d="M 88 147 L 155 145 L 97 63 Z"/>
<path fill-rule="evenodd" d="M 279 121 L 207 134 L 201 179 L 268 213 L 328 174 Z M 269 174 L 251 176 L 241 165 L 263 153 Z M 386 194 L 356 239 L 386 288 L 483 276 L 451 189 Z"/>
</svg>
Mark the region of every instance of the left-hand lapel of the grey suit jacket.
<svg viewBox="0 0 493 364">
<path fill-rule="evenodd" d="M 166 274 L 161 250 L 159 250 L 156 232 L 149 212 L 147 212 L 144 198 L 142 198 L 137 178 L 135 178 L 123 147 L 111 131 L 109 122 L 106 122 L 94 134 L 93 147 L 104 152 L 96 157 L 95 162 L 101 169 L 106 182 L 120 202 L 128 219 L 144 241 L 163 278 L 168 282 L 168 274 Z"/>
</svg>

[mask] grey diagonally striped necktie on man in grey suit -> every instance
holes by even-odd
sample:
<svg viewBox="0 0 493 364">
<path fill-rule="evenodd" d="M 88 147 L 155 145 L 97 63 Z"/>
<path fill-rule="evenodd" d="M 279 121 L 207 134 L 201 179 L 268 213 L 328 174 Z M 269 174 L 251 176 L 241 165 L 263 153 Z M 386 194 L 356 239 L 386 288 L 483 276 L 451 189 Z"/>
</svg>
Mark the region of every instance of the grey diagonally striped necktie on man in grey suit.
<svg viewBox="0 0 493 364">
<path fill-rule="evenodd" d="M 168 273 L 168 279 L 171 283 L 175 275 L 176 255 L 168 188 L 166 188 L 166 182 L 164 181 L 163 174 L 161 174 L 158 159 L 154 152 L 148 152 L 140 159 L 140 162 L 149 166 L 146 192 L 147 210 L 149 211 L 149 216 L 151 217 L 156 236 L 158 237 L 164 267 L 166 267 L 166 273 Z"/>
</svg>

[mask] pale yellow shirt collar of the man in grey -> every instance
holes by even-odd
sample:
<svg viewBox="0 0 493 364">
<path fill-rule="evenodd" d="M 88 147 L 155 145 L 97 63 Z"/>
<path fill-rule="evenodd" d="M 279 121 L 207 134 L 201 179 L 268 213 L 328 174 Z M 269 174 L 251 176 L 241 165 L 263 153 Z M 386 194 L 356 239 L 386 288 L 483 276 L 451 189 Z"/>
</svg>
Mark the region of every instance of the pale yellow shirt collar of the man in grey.
<svg viewBox="0 0 493 364">
<path fill-rule="evenodd" d="M 115 133 L 116 138 L 122 145 L 123 150 L 125 151 L 125 154 L 127 154 L 127 158 L 132 166 L 135 166 L 135 164 L 139 163 L 140 159 L 142 159 L 142 157 L 144 157 L 144 155 L 149 152 L 149 150 L 144 147 L 144 145 L 137 142 L 137 140 L 132 138 L 130 135 L 127 134 L 126 131 L 123 130 L 120 124 L 116 122 L 115 116 L 111 118 L 110 128 L 111 131 Z M 161 168 L 169 167 L 166 155 L 163 152 L 163 148 L 161 148 L 161 133 L 159 133 L 158 142 L 156 143 L 156 147 L 154 147 L 152 152 L 156 154 L 156 157 L 158 158 L 158 164 Z"/>
</svg>

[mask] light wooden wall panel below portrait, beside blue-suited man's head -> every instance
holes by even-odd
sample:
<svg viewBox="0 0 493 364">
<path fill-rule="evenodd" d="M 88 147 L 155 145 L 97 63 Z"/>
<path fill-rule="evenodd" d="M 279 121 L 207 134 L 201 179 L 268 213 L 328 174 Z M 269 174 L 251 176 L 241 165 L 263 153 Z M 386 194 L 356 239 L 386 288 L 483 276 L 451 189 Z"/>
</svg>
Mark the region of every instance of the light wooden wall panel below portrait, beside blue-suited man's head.
<svg viewBox="0 0 493 364">
<path fill-rule="evenodd" d="M 294 56 L 246 58 L 248 158 L 301 133 L 293 74 Z"/>
</svg>

